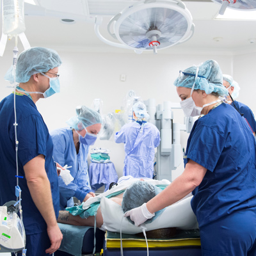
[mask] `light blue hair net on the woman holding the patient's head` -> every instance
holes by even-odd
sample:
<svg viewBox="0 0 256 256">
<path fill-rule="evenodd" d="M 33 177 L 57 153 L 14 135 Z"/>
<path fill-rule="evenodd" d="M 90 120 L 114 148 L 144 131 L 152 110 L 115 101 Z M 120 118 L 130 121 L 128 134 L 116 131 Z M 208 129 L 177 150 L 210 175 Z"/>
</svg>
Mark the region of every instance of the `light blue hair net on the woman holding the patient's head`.
<svg viewBox="0 0 256 256">
<path fill-rule="evenodd" d="M 220 96 L 228 95 L 228 90 L 223 86 L 223 77 L 220 66 L 214 60 L 207 60 L 198 69 L 198 77 L 186 75 L 184 73 L 196 74 L 196 66 L 187 68 L 180 72 L 180 76 L 174 81 L 175 86 L 192 88 L 195 82 L 194 90 L 204 90 L 205 93 L 218 93 Z"/>
</svg>

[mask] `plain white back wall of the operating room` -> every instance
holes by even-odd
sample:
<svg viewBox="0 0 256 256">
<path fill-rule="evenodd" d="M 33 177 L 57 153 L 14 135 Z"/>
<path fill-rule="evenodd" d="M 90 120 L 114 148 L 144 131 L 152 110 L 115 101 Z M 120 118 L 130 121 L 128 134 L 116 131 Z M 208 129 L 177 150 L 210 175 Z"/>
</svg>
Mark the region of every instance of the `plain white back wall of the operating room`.
<svg viewBox="0 0 256 256">
<path fill-rule="evenodd" d="M 57 50 L 58 51 L 58 50 Z M 191 51 L 193 52 L 193 51 Z M 119 109 L 128 90 L 134 90 L 143 100 L 156 99 L 156 104 L 164 101 L 179 102 L 173 81 L 179 70 L 198 65 L 205 60 L 214 59 L 220 64 L 223 73 L 232 74 L 241 85 L 242 102 L 256 109 L 253 99 L 255 55 L 216 55 L 216 54 L 135 54 L 59 51 L 63 65 L 59 68 L 61 93 L 49 99 L 40 99 L 36 106 L 44 117 L 49 131 L 65 127 L 65 121 L 75 115 L 75 108 L 84 104 L 91 106 L 93 99 L 103 101 L 104 113 Z M 8 82 L 3 77 L 12 65 L 12 52 L 5 52 L 1 57 L 0 77 L 2 90 L 0 100 L 12 90 L 5 88 Z M 255 71 L 254 71 L 255 72 Z M 126 81 L 120 81 L 120 75 L 126 75 Z M 250 83 L 253 82 L 253 83 Z M 246 90 L 247 89 L 247 90 Z M 253 91 L 254 90 L 254 91 Z M 250 99 L 250 100 L 249 100 Z M 183 122 L 181 109 L 174 110 L 174 122 Z M 182 147 L 186 147 L 188 134 L 181 132 Z M 95 147 L 106 147 L 111 150 L 111 161 L 115 164 L 118 176 L 122 176 L 124 162 L 124 145 L 114 141 L 97 140 Z M 180 175 L 183 164 L 172 172 L 173 178 Z"/>
</svg>

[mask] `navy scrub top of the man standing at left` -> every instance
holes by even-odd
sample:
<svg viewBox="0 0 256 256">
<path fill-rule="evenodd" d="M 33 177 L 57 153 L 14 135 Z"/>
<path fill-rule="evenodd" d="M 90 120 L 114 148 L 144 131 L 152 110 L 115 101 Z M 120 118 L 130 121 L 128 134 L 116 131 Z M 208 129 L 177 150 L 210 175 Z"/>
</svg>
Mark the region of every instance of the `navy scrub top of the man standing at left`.
<svg viewBox="0 0 256 256">
<path fill-rule="evenodd" d="M 13 94 L 0 103 L 0 205 L 16 200 L 16 154 L 14 132 Z M 45 171 L 51 183 L 52 202 L 56 218 L 59 213 L 59 189 L 56 166 L 52 158 L 52 140 L 44 120 L 35 103 L 26 95 L 16 95 L 17 140 L 19 186 L 22 190 L 23 222 L 26 234 L 38 234 L 47 229 L 44 218 L 36 208 L 29 193 L 23 166 L 31 159 L 42 154 L 45 156 Z M 44 193 L 44 191 L 42 191 Z"/>
</svg>

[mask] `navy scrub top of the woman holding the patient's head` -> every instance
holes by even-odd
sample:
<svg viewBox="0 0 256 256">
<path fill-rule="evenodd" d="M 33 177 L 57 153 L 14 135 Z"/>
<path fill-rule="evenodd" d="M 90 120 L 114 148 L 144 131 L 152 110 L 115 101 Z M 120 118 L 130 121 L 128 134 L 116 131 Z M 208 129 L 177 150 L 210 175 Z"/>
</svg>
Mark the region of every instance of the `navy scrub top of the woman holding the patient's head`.
<svg viewBox="0 0 256 256">
<path fill-rule="evenodd" d="M 191 159 L 207 168 L 191 200 L 199 227 L 234 211 L 256 207 L 255 148 L 246 120 L 228 104 L 196 120 L 184 163 Z"/>
</svg>

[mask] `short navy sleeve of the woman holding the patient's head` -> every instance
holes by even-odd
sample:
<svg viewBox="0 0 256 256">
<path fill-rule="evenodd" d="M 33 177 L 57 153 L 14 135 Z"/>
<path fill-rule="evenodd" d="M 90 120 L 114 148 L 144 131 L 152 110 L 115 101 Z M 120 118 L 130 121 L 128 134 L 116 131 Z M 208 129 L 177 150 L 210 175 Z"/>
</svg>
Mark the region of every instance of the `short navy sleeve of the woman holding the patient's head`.
<svg viewBox="0 0 256 256">
<path fill-rule="evenodd" d="M 213 172 L 225 147 L 225 138 L 211 127 L 198 126 L 191 136 L 187 159 Z"/>
</svg>

